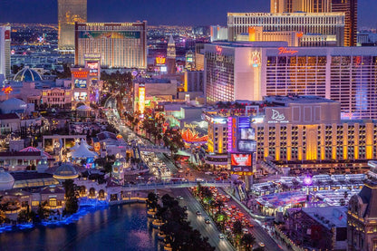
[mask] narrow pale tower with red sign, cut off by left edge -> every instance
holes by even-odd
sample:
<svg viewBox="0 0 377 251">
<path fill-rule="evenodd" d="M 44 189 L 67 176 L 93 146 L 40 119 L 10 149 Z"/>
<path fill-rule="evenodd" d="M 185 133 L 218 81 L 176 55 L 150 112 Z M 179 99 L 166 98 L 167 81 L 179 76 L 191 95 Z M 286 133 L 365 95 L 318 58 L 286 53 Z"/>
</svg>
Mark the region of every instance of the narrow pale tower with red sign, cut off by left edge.
<svg viewBox="0 0 377 251">
<path fill-rule="evenodd" d="M 0 26 L 0 74 L 11 73 L 11 27 Z"/>
</svg>

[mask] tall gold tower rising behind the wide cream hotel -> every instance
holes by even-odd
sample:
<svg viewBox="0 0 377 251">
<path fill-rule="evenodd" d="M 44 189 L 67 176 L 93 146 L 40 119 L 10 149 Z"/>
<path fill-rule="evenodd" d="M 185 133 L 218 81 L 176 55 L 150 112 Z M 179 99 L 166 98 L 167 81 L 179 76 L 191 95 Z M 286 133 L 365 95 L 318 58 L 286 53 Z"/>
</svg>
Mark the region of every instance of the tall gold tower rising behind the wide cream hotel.
<svg viewBox="0 0 377 251">
<path fill-rule="evenodd" d="M 60 51 L 73 53 L 74 23 L 86 22 L 86 2 L 87 0 L 58 0 L 58 48 Z"/>
</svg>

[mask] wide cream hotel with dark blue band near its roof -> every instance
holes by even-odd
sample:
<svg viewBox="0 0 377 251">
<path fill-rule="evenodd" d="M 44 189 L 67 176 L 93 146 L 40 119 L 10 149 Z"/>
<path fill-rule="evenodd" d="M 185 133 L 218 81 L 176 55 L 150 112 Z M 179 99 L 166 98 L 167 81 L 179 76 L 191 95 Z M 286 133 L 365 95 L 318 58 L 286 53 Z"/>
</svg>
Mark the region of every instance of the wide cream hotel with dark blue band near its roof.
<svg viewBox="0 0 377 251">
<path fill-rule="evenodd" d="M 74 63 L 92 53 L 105 68 L 147 68 L 147 22 L 76 23 Z"/>
</svg>

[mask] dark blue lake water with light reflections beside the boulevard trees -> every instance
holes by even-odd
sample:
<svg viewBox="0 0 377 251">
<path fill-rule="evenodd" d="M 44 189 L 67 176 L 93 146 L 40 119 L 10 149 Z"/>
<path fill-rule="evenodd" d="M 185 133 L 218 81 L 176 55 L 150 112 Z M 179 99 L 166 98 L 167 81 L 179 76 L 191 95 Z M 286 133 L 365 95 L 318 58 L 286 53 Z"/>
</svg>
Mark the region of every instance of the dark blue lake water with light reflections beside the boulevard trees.
<svg viewBox="0 0 377 251">
<path fill-rule="evenodd" d="M 77 221 L 0 234 L 0 250 L 160 250 L 145 205 L 93 209 Z"/>
</svg>

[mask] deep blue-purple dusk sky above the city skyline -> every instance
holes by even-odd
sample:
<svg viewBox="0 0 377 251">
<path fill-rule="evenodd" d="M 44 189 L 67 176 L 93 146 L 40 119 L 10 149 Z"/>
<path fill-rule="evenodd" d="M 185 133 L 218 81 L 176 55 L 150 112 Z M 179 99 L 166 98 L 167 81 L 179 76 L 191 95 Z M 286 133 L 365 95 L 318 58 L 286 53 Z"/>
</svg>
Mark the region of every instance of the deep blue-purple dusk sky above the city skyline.
<svg viewBox="0 0 377 251">
<path fill-rule="evenodd" d="M 227 24 L 227 12 L 268 12 L 269 0 L 88 0 L 89 22 Z M 377 27 L 377 0 L 359 0 L 359 27 Z M 0 0 L 0 23 L 57 23 L 57 0 Z"/>
</svg>

